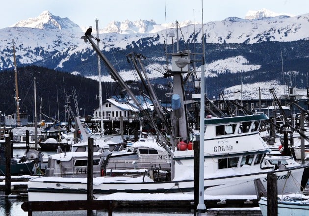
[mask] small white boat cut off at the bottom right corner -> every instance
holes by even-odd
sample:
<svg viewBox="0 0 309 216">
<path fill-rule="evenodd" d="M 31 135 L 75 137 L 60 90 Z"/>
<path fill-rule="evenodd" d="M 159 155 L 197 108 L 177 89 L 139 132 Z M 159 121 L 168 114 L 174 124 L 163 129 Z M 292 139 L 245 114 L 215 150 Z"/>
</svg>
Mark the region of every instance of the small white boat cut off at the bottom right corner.
<svg viewBox="0 0 309 216">
<path fill-rule="evenodd" d="M 293 194 L 292 194 L 293 195 Z M 298 195 L 298 196 L 297 196 Z M 278 197 L 278 215 L 279 216 L 309 216 L 309 196 L 302 193 L 296 193 L 293 197 Z M 258 201 L 262 215 L 267 216 L 267 198 L 261 197 Z"/>
</svg>

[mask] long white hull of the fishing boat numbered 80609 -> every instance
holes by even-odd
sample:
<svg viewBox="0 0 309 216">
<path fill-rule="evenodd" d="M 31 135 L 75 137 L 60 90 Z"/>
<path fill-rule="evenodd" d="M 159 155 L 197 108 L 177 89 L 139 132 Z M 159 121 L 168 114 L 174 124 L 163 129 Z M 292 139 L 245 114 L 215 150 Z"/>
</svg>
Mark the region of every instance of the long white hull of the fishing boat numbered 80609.
<svg viewBox="0 0 309 216">
<path fill-rule="evenodd" d="M 304 169 L 299 166 L 286 170 L 273 171 L 278 176 L 278 191 L 291 193 L 300 190 Z M 269 172 L 269 171 L 268 171 Z M 254 180 L 260 179 L 266 187 L 267 171 L 238 176 L 206 178 L 205 194 L 209 195 L 255 195 Z M 146 178 L 146 177 L 145 177 Z M 308 179 L 308 177 L 307 177 Z M 133 180 L 127 177 L 98 177 L 94 179 L 94 194 L 101 195 L 115 192 L 127 193 L 182 193 L 194 192 L 194 181 L 143 182 L 143 177 Z M 42 195 L 47 194 L 47 195 Z M 29 201 L 85 200 L 87 199 L 87 179 L 85 178 L 46 178 L 30 179 L 28 182 Z"/>
</svg>

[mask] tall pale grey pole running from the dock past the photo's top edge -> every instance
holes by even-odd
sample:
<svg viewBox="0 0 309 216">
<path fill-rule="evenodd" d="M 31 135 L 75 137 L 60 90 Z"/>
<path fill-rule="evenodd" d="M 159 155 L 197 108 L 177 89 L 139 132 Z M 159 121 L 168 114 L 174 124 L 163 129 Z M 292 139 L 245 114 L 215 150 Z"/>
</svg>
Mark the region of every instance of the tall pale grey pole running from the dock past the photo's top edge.
<svg viewBox="0 0 309 216">
<path fill-rule="evenodd" d="M 201 110 L 200 110 L 200 164 L 199 164 L 199 204 L 197 210 L 201 215 L 202 210 L 206 210 L 204 201 L 204 134 L 205 134 L 205 42 L 204 42 L 204 19 L 202 0 L 202 46 L 203 61 L 201 65 Z"/>
</svg>

